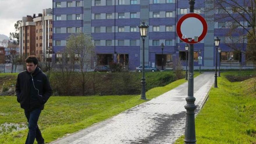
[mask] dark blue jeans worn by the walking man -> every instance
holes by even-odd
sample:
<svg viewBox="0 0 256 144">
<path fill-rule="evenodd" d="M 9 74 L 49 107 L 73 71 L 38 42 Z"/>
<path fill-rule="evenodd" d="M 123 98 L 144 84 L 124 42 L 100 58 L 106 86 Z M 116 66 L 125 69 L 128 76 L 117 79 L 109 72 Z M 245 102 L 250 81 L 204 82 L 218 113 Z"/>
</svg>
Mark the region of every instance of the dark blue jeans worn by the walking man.
<svg viewBox="0 0 256 144">
<path fill-rule="evenodd" d="M 37 121 L 40 116 L 41 109 L 35 109 L 33 111 L 25 110 L 26 118 L 29 122 L 29 133 L 25 144 L 33 144 L 35 139 L 38 144 L 43 144 L 44 139 L 42 137 L 41 131 L 38 128 Z"/>
</svg>

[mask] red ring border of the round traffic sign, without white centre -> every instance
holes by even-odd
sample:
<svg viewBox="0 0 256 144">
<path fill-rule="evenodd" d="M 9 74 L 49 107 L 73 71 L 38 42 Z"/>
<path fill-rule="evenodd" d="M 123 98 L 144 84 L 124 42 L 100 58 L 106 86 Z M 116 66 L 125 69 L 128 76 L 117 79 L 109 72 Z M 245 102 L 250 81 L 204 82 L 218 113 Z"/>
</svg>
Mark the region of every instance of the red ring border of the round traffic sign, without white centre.
<svg viewBox="0 0 256 144">
<path fill-rule="evenodd" d="M 184 22 L 184 20 L 186 20 L 187 18 L 190 18 L 190 17 L 195 17 L 195 18 L 199 19 L 200 22 L 202 22 L 202 25 L 203 25 L 202 34 L 198 37 L 198 41 L 197 41 L 197 42 L 195 42 L 194 39 L 192 39 L 192 41 L 189 41 L 188 38 L 185 38 L 185 39 L 182 38 L 183 35 L 182 35 L 182 33 L 181 33 L 181 24 L 182 24 L 182 22 Z M 191 27 L 191 28 L 192 28 L 192 27 Z M 196 14 L 196 13 L 188 13 L 188 14 L 182 16 L 182 17 L 179 19 L 179 21 L 177 22 L 177 28 L 176 28 L 176 30 L 177 30 L 177 35 L 179 36 L 179 38 L 180 38 L 182 41 L 184 41 L 184 42 L 186 42 L 186 43 L 189 43 L 189 44 L 195 44 L 195 43 L 198 43 L 198 42 L 200 42 L 201 40 L 203 40 L 203 39 L 205 38 L 206 33 L 207 33 L 207 29 L 208 29 L 208 27 L 207 27 L 207 23 L 206 23 L 205 18 L 202 17 L 201 15 Z"/>
</svg>

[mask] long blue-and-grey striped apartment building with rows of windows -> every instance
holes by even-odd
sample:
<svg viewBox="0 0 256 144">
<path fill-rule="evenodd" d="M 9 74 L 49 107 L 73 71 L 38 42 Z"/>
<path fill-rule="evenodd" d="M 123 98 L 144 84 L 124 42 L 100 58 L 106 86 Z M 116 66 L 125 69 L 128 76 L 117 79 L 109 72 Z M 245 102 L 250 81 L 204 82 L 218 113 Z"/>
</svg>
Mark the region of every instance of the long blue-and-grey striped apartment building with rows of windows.
<svg viewBox="0 0 256 144">
<path fill-rule="evenodd" d="M 202 51 L 202 69 L 214 69 L 216 48 L 214 38 L 221 39 L 221 68 L 251 67 L 243 52 L 234 52 L 228 45 L 227 37 L 231 19 L 214 21 L 221 11 L 205 11 L 212 6 L 204 0 L 195 1 L 195 11 L 205 17 L 208 24 L 207 35 L 194 45 L 194 66 L 199 68 L 198 50 Z M 142 39 L 138 26 L 141 22 L 149 25 L 145 39 L 145 65 L 161 68 L 162 50 L 164 68 L 172 69 L 178 60 L 185 65 L 185 43 L 176 34 L 176 24 L 180 17 L 189 13 L 187 0 L 53 0 L 53 59 L 61 57 L 66 38 L 72 33 L 91 35 L 97 54 L 97 65 L 121 63 L 129 70 L 142 65 Z M 243 19 L 241 19 L 243 22 Z M 246 25 L 245 22 L 243 24 Z M 191 25 L 191 29 L 193 29 Z M 248 27 L 250 27 L 248 25 Z M 241 33 L 243 29 L 237 28 Z M 241 33 L 234 33 L 239 39 Z M 246 42 L 237 42 L 242 51 Z M 219 58 L 218 58 L 219 59 Z M 93 69 L 95 62 L 91 61 Z"/>
</svg>

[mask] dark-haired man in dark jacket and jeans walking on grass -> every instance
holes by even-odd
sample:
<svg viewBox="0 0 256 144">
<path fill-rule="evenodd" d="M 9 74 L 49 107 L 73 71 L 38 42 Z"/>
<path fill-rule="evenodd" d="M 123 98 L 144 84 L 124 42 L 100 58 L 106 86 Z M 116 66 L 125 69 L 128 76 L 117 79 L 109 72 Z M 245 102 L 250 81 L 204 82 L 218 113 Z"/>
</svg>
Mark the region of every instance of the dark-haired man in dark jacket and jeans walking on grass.
<svg viewBox="0 0 256 144">
<path fill-rule="evenodd" d="M 38 67 L 35 56 L 26 58 L 26 70 L 18 74 L 16 82 L 16 95 L 20 107 L 24 109 L 29 122 L 29 133 L 25 144 L 44 144 L 37 121 L 44 104 L 51 96 L 51 86 L 45 73 Z"/>
</svg>

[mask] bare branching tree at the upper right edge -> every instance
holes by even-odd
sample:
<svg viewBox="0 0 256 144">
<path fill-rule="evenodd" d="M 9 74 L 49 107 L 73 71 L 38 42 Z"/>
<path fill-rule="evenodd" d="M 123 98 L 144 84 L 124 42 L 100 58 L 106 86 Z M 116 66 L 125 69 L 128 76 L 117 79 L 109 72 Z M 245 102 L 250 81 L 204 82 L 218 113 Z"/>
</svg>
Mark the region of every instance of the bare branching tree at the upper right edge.
<svg viewBox="0 0 256 144">
<path fill-rule="evenodd" d="M 214 20 L 226 19 L 229 28 L 226 34 L 229 42 L 228 47 L 235 51 L 245 53 L 255 66 L 256 61 L 256 1 L 255 0 L 206 0 L 205 3 L 212 3 L 211 8 L 205 12 L 214 11 L 220 15 L 215 15 Z M 234 38 L 234 34 L 239 34 L 240 38 Z M 247 50 L 243 51 L 242 44 L 247 43 Z"/>
</svg>

